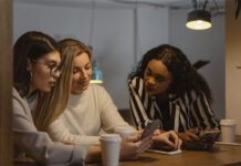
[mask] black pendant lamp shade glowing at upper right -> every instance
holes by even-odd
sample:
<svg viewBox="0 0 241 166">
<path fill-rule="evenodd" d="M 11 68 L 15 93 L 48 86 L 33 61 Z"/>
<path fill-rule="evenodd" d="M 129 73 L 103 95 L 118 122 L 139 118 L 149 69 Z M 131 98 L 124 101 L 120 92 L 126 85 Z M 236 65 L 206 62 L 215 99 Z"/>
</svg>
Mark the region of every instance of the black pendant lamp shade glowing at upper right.
<svg viewBox="0 0 241 166">
<path fill-rule="evenodd" d="M 192 9 L 188 13 L 186 27 L 191 30 L 207 30 L 211 28 L 211 14 L 203 9 Z"/>
</svg>

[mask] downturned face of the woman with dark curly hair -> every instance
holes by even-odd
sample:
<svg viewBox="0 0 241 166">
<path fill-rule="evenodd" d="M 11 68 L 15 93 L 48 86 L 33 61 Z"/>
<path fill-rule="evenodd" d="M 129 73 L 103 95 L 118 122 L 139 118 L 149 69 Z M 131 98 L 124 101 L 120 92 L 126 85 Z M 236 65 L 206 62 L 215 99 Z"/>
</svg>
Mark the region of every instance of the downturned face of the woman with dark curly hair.
<svg viewBox="0 0 241 166">
<path fill-rule="evenodd" d="M 144 73 L 145 89 L 148 95 L 160 95 L 169 89 L 172 76 L 159 60 L 150 60 Z"/>
</svg>

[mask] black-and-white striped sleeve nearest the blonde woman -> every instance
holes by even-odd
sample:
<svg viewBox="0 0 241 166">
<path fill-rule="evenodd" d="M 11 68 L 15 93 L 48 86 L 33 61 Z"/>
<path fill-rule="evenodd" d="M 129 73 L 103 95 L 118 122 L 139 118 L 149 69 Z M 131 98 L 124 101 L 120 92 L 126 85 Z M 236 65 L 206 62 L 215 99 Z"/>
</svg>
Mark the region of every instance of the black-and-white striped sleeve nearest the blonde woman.
<svg viewBox="0 0 241 166">
<path fill-rule="evenodd" d="M 144 106 L 145 103 L 145 94 L 143 91 L 143 80 L 133 79 L 128 81 L 129 87 L 129 105 L 130 113 L 133 115 L 133 120 L 136 124 L 137 129 L 142 129 L 146 126 L 149 118 L 146 114 L 146 108 Z"/>
</svg>

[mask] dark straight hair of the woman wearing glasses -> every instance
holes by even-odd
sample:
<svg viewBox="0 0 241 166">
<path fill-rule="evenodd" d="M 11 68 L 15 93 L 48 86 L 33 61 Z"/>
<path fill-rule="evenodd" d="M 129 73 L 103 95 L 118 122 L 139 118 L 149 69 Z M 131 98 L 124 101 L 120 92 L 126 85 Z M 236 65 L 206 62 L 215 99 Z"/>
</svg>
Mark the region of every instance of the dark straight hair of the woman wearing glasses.
<svg viewBox="0 0 241 166">
<path fill-rule="evenodd" d="M 57 50 L 57 44 L 42 32 L 27 32 L 22 34 L 13 46 L 13 86 L 24 96 L 29 92 L 30 72 L 27 61 L 36 61 L 43 55 Z"/>
</svg>

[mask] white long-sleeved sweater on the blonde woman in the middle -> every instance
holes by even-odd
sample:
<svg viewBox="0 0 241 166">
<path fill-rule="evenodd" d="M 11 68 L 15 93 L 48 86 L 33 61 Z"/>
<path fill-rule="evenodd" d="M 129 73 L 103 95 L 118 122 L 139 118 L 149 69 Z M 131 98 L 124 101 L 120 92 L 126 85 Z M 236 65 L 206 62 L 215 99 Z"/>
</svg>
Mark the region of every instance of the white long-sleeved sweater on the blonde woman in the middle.
<svg viewBox="0 0 241 166">
<path fill-rule="evenodd" d="M 90 84 L 82 94 L 71 95 L 64 113 L 48 132 L 54 141 L 98 145 L 101 128 L 114 133 L 116 127 L 133 128 L 122 118 L 105 89 Z"/>
</svg>

